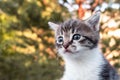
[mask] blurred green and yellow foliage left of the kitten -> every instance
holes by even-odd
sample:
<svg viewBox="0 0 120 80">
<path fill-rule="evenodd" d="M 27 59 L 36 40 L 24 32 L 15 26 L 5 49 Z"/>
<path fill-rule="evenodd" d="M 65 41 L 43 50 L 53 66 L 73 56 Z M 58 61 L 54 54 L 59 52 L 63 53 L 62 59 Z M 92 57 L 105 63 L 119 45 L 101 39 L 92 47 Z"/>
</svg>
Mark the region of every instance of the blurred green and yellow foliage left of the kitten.
<svg viewBox="0 0 120 80">
<path fill-rule="evenodd" d="M 63 21 L 66 13 L 56 0 L 0 1 L 0 80 L 60 77 L 58 61 L 48 54 L 53 43 L 47 41 L 52 37 L 47 23 Z"/>
</svg>

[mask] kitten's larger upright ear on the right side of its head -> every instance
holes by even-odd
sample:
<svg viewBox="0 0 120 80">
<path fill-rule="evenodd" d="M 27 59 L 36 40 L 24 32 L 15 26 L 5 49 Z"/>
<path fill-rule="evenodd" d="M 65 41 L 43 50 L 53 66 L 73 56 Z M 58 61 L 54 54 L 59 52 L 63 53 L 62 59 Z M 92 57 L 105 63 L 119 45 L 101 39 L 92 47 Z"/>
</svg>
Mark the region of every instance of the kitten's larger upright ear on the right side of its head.
<svg viewBox="0 0 120 80">
<path fill-rule="evenodd" d="M 95 12 L 85 22 L 95 31 L 99 31 L 100 11 Z"/>
</svg>

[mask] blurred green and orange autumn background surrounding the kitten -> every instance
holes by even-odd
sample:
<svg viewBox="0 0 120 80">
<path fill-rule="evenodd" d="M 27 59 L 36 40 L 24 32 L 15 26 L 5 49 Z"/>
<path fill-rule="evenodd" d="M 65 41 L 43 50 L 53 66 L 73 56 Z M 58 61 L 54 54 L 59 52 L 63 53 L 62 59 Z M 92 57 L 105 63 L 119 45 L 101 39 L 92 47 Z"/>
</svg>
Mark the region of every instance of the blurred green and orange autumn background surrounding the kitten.
<svg viewBox="0 0 120 80">
<path fill-rule="evenodd" d="M 0 0 L 0 80 L 56 80 L 64 62 L 48 21 L 101 10 L 100 48 L 120 72 L 120 0 Z"/>
</svg>

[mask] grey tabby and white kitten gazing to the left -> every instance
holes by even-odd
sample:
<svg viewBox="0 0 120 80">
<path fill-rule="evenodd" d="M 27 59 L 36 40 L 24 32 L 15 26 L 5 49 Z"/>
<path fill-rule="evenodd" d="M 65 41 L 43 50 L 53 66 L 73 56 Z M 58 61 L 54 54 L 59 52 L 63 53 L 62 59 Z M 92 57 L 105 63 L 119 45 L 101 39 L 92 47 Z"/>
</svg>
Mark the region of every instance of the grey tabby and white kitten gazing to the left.
<svg viewBox="0 0 120 80">
<path fill-rule="evenodd" d="M 87 20 L 48 22 L 55 31 L 56 49 L 65 61 L 61 80 L 120 80 L 98 48 L 100 12 Z"/>
</svg>

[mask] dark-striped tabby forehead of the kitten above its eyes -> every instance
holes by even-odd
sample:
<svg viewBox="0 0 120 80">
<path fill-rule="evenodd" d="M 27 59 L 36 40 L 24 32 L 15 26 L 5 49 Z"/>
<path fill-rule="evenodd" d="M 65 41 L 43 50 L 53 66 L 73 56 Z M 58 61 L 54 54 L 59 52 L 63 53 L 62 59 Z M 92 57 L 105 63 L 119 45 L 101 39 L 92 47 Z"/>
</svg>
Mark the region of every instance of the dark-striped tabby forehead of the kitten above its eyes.
<svg viewBox="0 0 120 80">
<path fill-rule="evenodd" d="M 61 28 L 61 32 L 68 32 L 72 29 L 72 33 L 74 33 L 75 31 L 84 31 L 84 32 L 90 32 L 91 28 L 88 27 L 82 20 L 68 20 L 65 21 L 64 23 L 62 23 L 60 25 Z"/>
</svg>

